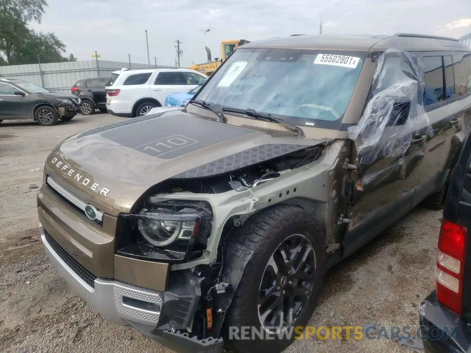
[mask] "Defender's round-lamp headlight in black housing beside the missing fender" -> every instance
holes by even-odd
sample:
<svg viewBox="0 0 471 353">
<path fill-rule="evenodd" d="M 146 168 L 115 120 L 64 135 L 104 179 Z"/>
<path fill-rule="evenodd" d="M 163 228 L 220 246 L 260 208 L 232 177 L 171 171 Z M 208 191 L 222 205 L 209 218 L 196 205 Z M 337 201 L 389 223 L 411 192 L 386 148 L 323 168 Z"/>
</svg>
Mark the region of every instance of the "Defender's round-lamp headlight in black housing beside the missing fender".
<svg viewBox="0 0 471 353">
<path fill-rule="evenodd" d="M 211 221 L 212 209 L 205 201 L 148 202 L 139 212 L 118 218 L 117 253 L 164 262 L 199 257 Z"/>
</svg>

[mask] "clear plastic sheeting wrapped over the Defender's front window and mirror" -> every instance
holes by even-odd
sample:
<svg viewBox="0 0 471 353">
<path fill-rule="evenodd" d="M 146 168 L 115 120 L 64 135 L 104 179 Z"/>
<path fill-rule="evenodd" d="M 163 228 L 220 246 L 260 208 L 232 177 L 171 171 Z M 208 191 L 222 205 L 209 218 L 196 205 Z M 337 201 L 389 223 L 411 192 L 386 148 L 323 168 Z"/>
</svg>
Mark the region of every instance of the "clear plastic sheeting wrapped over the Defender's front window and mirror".
<svg viewBox="0 0 471 353">
<path fill-rule="evenodd" d="M 433 136 L 423 109 L 424 65 L 413 54 L 388 49 L 378 58 L 371 99 L 358 121 L 349 127 L 360 165 L 399 156 L 417 134 Z"/>
</svg>

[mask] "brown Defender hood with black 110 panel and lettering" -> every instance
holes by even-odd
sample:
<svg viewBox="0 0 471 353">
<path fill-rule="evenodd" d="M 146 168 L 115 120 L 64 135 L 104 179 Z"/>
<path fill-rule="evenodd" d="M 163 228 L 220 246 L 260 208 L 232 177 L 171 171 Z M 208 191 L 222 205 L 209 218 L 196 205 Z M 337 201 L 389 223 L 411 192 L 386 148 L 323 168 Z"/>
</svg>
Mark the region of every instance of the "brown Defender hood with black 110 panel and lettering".
<svg viewBox="0 0 471 353">
<path fill-rule="evenodd" d="M 300 149 L 321 142 L 169 110 L 71 136 L 51 152 L 44 170 L 76 197 L 117 216 L 155 184 L 226 156 L 267 144 Z"/>
</svg>

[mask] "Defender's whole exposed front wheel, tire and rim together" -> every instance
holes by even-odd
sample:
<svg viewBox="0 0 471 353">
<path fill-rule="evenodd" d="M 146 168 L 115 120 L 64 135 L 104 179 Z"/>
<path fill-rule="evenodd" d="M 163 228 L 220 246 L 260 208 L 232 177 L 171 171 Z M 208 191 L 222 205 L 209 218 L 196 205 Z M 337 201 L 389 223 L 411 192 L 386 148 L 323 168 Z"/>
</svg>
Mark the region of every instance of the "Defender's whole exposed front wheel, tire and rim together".
<svg viewBox="0 0 471 353">
<path fill-rule="evenodd" d="M 281 352 L 317 305 L 325 274 L 325 235 L 305 209 L 281 205 L 236 228 L 235 242 L 253 254 L 227 311 L 225 341 L 238 352 Z M 250 328 L 250 339 L 241 337 L 242 327 Z"/>
</svg>

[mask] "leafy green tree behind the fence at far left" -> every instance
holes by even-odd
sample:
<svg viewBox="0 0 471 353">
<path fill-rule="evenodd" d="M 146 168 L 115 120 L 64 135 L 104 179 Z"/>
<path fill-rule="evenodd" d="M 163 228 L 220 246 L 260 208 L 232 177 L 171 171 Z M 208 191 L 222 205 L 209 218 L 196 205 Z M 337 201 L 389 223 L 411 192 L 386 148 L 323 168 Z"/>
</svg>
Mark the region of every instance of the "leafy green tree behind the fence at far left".
<svg viewBox="0 0 471 353">
<path fill-rule="evenodd" d="M 54 33 L 36 33 L 28 23 L 41 23 L 46 0 L 0 0 L 0 56 L 8 64 L 68 61 L 64 43 Z"/>
</svg>

